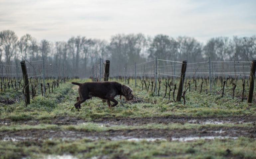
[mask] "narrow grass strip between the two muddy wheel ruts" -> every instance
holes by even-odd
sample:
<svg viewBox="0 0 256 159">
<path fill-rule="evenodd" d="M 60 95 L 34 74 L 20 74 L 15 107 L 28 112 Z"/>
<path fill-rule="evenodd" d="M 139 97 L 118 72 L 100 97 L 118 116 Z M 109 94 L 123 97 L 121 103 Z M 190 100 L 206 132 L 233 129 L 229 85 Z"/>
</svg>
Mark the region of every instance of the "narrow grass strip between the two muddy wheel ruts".
<svg viewBox="0 0 256 159">
<path fill-rule="evenodd" d="M 86 122 L 79 125 L 55 125 L 55 124 L 38 124 L 38 125 L 27 125 L 27 124 L 12 124 L 9 126 L 1 126 L 0 132 L 6 131 L 21 131 L 21 130 L 62 130 L 62 131 L 86 131 L 86 132 L 105 132 L 109 130 L 136 130 L 136 129 L 165 129 L 165 130 L 198 130 L 198 129 L 210 129 L 210 128 L 255 128 L 254 123 L 224 123 L 221 125 L 215 124 L 191 124 L 191 123 L 170 123 L 170 124 L 157 124 L 149 123 L 140 126 L 126 126 L 126 125 L 114 125 L 109 127 L 107 124 Z"/>
</svg>

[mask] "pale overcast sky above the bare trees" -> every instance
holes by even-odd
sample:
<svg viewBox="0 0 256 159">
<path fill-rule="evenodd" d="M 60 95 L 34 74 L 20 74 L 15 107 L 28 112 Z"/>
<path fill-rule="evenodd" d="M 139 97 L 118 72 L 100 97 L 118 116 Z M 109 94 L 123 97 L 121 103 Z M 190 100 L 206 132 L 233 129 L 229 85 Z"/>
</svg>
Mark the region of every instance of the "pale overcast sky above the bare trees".
<svg viewBox="0 0 256 159">
<path fill-rule="evenodd" d="M 0 0 L 0 31 L 20 38 L 110 40 L 117 33 L 211 37 L 256 35 L 256 0 Z"/>
</svg>

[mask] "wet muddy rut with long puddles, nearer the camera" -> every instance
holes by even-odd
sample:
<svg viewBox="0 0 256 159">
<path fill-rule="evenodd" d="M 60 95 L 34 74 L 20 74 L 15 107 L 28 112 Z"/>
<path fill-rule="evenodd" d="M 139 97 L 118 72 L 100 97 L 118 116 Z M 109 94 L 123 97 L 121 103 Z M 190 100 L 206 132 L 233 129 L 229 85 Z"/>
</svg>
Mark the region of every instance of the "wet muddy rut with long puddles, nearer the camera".
<svg viewBox="0 0 256 159">
<path fill-rule="evenodd" d="M 134 130 L 108 130 L 105 132 L 82 132 L 82 131 L 53 131 L 53 130 L 22 130 L 0 132 L 1 140 L 77 140 L 88 138 L 91 140 L 179 140 L 188 141 L 193 139 L 233 138 L 239 136 L 250 138 L 256 137 L 256 128 L 211 128 L 200 130 L 166 130 L 166 129 L 134 129 Z"/>
</svg>

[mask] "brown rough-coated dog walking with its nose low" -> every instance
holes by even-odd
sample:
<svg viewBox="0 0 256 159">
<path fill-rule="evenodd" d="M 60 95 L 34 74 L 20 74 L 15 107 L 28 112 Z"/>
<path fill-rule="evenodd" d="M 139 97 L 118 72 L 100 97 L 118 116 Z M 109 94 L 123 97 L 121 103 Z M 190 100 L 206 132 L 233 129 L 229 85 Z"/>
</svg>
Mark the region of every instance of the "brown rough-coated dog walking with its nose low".
<svg viewBox="0 0 256 159">
<path fill-rule="evenodd" d="M 79 97 L 76 97 L 77 102 L 74 104 L 76 109 L 80 108 L 80 104 L 87 99 L 91 99 L 91 97 L 106 99 L 108 108 L 118 104 L 118 101 L 114 99 L 116 95 L 120 95 L 120 99 L 123 95 L 125 100 L 131 100 L 133 98 L 132 89 L 130 87 L 115 81 L 71 83 L 79 85 Z M 114 102 L 114 104 L 110 105 L 110 101 Z"/>
</svg>

